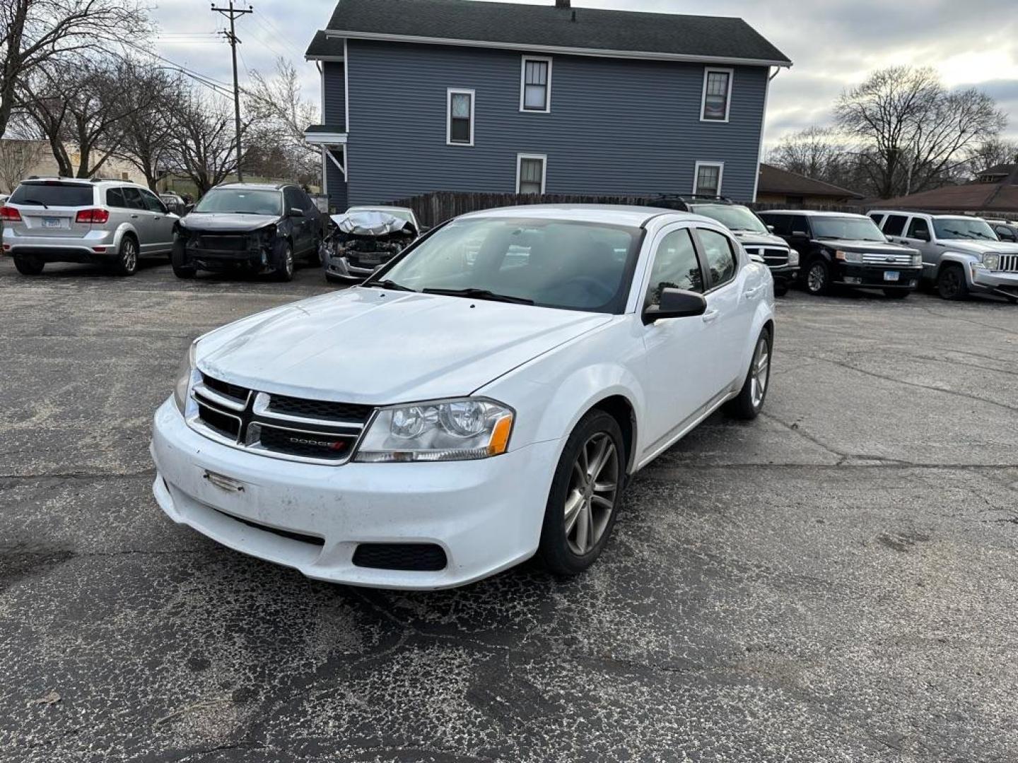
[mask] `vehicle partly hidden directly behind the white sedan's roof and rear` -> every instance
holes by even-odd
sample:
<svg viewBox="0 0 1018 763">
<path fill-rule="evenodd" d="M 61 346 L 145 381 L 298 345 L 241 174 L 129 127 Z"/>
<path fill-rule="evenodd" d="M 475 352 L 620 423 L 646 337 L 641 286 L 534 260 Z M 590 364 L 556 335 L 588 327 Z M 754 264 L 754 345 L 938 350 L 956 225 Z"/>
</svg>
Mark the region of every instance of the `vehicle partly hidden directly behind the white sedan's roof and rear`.
<svg viewBox="0 0 1018 763">
<path fill-rule="evenodd" d="M 728 228 L 749 254 L 764 258 L 774 278 L 774 293 L 779 297 L 799 272 L 799 252 L 768 230 L 752 210 L 735 203 L 725 196 L 661 196 L 654 200 L 656 207 L 689 212 L 693 215 L 717 220 Z"/>
</svg>

